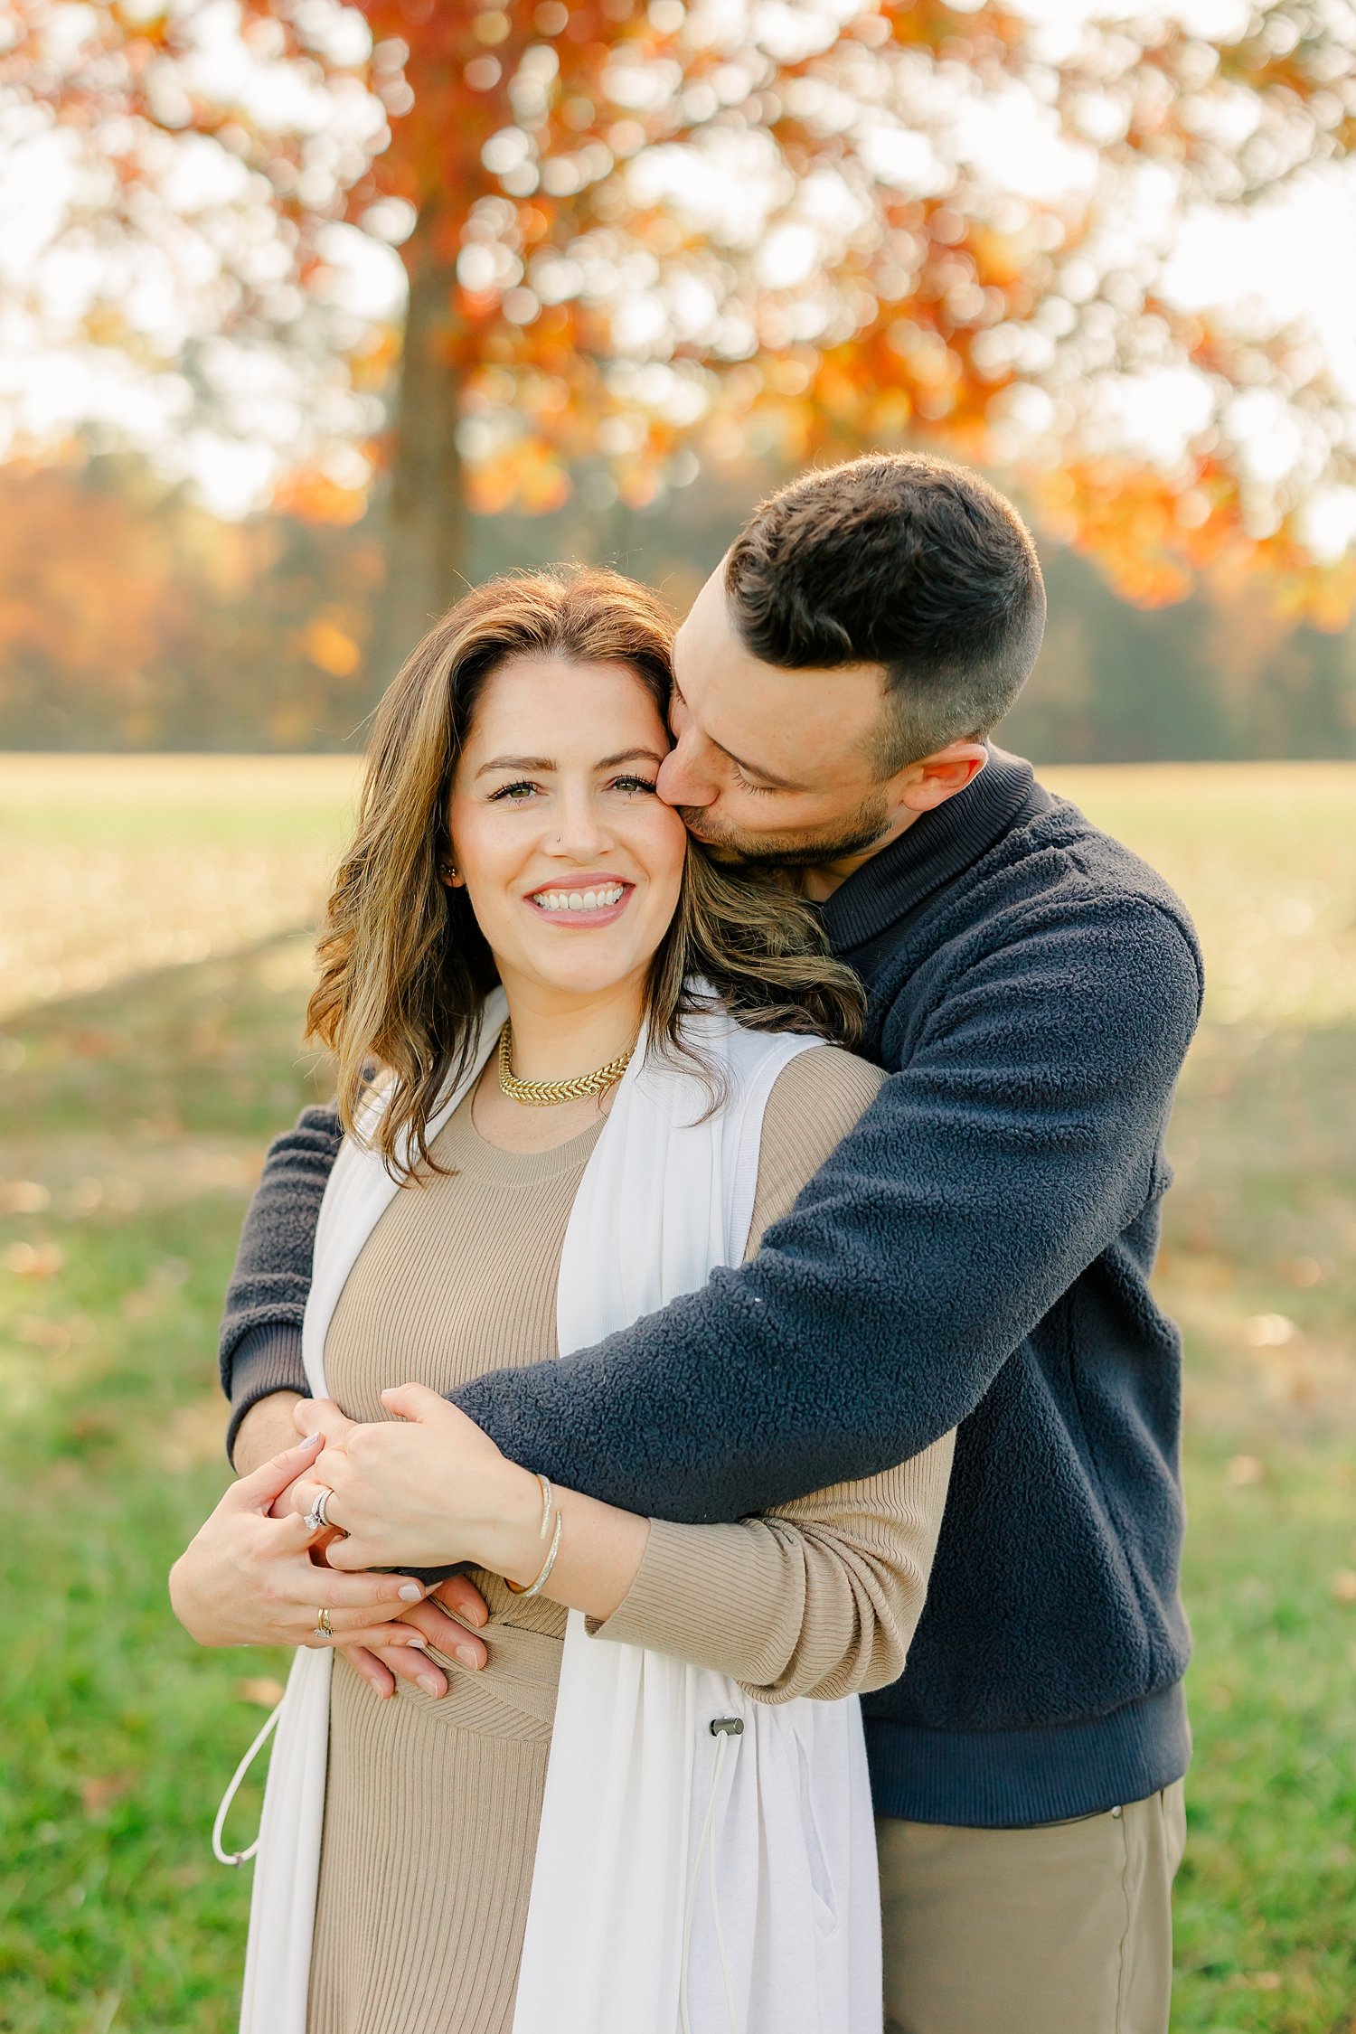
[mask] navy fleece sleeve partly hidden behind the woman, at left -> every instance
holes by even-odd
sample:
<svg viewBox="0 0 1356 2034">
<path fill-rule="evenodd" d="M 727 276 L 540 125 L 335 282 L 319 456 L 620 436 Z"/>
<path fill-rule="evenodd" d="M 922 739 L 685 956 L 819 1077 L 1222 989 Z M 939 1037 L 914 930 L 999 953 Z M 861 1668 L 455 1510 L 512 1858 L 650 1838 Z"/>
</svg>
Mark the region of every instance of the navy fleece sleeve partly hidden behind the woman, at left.
<svg viewBox="0 0 1356 2034">
<path fill-rule="evenodd" d="M 319 1204 L 342 1135 L 337 1109 L 303 1109 L 293 1129 L 268 1145 L 222 1314 L 228 1454 L 250 1405 L 270 1391 L 307 1389 L 301 1318 L 311 1290 Z"/>
</svg>

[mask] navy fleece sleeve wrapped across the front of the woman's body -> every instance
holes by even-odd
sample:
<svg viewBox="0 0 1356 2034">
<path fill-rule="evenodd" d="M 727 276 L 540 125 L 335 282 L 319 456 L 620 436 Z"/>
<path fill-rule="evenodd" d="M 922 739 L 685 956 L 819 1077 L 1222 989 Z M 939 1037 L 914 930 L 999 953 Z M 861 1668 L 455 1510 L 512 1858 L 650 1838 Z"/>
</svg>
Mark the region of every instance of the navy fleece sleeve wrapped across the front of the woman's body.
<svg viewBox="0 0 1356 2034">
<path fill-rule="evenodd" d="M 998 913 L 758 1255 L 598 1349 L 455 1401 L 516 1460 L 632 1511 L 736 1519 L 958 1426 L 1157 1194 L 1199 962 L 1136 895 Z M 913 999 L 917 1007 L 917 997 Z M 899 1019 L 901 1025 L 905 1019 Z"/>
</svg>

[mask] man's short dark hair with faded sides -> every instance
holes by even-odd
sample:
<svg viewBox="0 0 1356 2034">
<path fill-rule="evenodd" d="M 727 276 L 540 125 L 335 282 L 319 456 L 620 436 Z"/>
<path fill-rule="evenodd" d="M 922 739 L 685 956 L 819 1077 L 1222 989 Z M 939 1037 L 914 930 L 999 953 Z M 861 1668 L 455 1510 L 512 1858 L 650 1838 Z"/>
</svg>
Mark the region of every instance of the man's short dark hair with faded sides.
<svg viewBox="0 0 1356 2034">
<path fill-rule="evenodd" d="M 1045 631 L 1016 508 L 980 474 L 921 452 L 868 454 L 781 488 L 734 539 L 726 594 L 764 663 L 884 665 L 882 777 L 988 734 Z"/>
</svg>

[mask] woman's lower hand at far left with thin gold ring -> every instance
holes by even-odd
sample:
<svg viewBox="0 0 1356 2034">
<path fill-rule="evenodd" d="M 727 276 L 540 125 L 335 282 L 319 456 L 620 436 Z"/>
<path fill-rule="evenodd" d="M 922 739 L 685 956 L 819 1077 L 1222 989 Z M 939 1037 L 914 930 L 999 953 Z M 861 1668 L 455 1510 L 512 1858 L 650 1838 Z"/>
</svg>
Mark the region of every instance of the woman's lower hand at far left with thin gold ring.
<svg viewBox="0 0 1356 2034">
<path fill-rule="evenodd" d="M 232 1485 L 171 1568 L 175 1617 L 199 1646 L 378 1643 L 390 1652 L 427 1643 L 423 1631 L 398 1621 L 423 1603 L 421 1582 L 321 1568 L 311 1560 L 317 1534 L 305 1519 L 268 1515 L 287 1485 L 313 1469 L 319 1446 L 321 1436 L 311 1434 Z M 333 1637 L 317 1633 L 321 1609 Z"/>
</svg>

